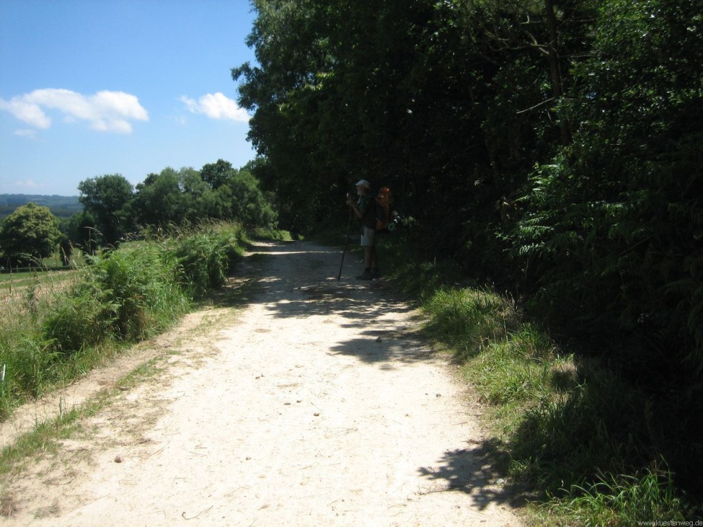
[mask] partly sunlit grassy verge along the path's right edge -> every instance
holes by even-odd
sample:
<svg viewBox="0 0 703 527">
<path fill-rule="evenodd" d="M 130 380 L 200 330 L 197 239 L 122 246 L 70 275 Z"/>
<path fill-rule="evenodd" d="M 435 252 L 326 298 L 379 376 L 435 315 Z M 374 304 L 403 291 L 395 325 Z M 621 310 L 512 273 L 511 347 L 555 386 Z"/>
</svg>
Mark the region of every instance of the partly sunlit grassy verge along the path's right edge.
<svg viewBox="0 0 703 527">
<path fill-rule="evenodd" d="M 422 262 L 406 247 L 400 237 L 382 242 L 385 273 L 422 306 L 427 337 L 451 353 L 486 405 L 491 444 L 503 454 L 508 490 L 529 503 L 527 521 L 624 526 L 701 518 L 663 455 L 678 445 L 662 444 L 666 424 L 652 417 L 650 396 L 557 346 L 507 295 L 462 281 L 449 263 Z"/>
</svg>

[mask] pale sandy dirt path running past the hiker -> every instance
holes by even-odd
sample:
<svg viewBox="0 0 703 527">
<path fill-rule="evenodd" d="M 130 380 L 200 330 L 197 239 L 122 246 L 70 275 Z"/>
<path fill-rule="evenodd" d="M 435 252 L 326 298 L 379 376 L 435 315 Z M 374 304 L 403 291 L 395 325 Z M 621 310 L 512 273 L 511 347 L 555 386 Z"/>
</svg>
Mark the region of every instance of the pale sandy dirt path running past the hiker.
<svg viewBox="0 0 703 527">
<path fill-rule="evenodd" d="M 520 525 L 479 408 L 416 338 L 417 313 L 389 299 L 384 280 L 354 280 L 355 256 L 337 281 L 338 251 L 259 252 L 244 308 L 193 314 L 188 331 L 63 392 L 63 408 L 81 403 L 156 358 L 155 375 L 84 419 L 56 454 L 8 476 L 0 524 Z M 51 401 L 18 412 L 5 440 Z"/>
</svg>

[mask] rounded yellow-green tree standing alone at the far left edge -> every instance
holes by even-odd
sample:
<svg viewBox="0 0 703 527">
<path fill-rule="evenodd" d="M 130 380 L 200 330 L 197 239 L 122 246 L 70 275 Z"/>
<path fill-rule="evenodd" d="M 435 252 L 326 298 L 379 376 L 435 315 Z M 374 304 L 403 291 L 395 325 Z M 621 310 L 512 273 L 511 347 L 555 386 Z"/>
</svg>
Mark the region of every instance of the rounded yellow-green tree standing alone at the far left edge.
<svg viewBox="0 0 703 527">
<path fill-rule="evenodd" d="M 53 254 L 61 237 L 48 207 L 29 203 L 0 224 L 0 250 L 11 265 L 33 266 Z"/>
</svg>

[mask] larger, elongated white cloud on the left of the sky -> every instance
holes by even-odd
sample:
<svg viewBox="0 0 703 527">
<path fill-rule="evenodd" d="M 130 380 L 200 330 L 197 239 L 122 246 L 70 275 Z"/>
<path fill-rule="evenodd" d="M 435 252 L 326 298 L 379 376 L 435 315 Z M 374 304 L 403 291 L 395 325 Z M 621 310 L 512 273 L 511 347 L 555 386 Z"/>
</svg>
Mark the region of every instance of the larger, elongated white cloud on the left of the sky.
<svg viewBox="0 0 703 527">
<path fill-rule="evenodd" d="M 46 129 L 51 119 L 44 109 L 59 110 L 67 122 L 89 122 L 93 130 L 129 134 L 131 121 L 148 121 L 147 111 L 138 98 L 124 91 L 98 91 L 91 96 L 65 89 L 41 89 L 6 101 L 0 99 L 0 110 L 6 110 L 20 121 Z"/>
</svg>

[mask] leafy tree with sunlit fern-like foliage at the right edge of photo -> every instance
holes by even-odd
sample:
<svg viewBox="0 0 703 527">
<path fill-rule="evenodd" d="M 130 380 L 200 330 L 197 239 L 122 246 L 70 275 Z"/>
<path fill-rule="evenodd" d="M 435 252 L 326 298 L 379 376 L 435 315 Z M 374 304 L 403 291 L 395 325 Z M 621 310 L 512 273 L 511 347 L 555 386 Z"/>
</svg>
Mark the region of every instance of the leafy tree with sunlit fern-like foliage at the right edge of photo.
<svg viewBox="0 0 703 527">
<path fill-rule="evenodd" d="M 702 18 L 692 1 L 612 0 L 598 28 L 576 140 L 532 178 L 517 247 L 554 322 L 666 335 L 703 372 Z"/>
</svg>

